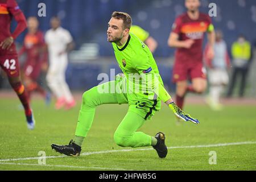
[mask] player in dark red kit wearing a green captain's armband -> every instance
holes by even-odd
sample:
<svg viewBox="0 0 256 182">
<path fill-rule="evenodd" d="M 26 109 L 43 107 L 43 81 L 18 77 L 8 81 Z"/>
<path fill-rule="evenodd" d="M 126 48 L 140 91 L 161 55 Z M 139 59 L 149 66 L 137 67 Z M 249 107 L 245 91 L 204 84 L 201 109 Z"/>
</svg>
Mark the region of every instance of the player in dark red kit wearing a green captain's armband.
<svg viewBox="0 0 256 182">
<path fill-rule="evenodd" d="M 203 66 L 203 38 L 208 33 L 207 56 L 214 56 L 214 27 L 209 15 L 199 12 L 200 0 L 185 0 L 187 12 L 178 16 L 168 39 L 176 47 L 173 81 L 176 82 L 176 104 L 183 108 L 185 94 L 203 93 L 207 88 L 206 70 Z M 192 84 L 188 85 L 187 80 Z"/>
</svg>

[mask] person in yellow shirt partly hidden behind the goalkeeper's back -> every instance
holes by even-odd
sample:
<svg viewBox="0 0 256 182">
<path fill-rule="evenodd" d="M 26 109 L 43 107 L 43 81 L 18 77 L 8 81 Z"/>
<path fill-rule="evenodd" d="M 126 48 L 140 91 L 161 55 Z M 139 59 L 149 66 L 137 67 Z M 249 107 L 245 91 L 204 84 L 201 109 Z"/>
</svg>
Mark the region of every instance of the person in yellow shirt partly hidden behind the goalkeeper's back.
<svg viewBox="0 0 256 182">
<path fill-rule="evenodd" d="M 147 45 L 152 53 L 155 52 L 155 49 L 158 47 L 158 43 L 147 31 L 143 30 L 143 28 L 139 26 L 133 25 L 130 28 L 130 32 L 138 36 L 138 38 Z"/>
</svg>

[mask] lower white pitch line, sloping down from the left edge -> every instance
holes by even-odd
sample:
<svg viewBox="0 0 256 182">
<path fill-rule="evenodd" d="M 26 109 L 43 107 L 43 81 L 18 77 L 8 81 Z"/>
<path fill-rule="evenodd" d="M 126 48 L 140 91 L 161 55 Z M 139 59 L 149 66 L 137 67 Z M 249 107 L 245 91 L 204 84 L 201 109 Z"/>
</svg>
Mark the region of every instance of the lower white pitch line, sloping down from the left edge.
<svg viewBox="0 0 256 182">
<path fill-rule="evenodd" d="M 65 168 L 80 168 L 80 169 L 105 169 L 105 170 L 116 170 L 116 171 L 134 171 L 133 169 L 122 169 L 122 168 L 108 168 L 108 167 L 85 167 L 85 166 L 66 166 L 66 165 L 49 165 L 49 164 L 26 164 L 26 163 L 0 163 L 7 165 L 18 165 L 18 166 L 40 166 L 40 167 L 65 167 Z"/>
</svg>

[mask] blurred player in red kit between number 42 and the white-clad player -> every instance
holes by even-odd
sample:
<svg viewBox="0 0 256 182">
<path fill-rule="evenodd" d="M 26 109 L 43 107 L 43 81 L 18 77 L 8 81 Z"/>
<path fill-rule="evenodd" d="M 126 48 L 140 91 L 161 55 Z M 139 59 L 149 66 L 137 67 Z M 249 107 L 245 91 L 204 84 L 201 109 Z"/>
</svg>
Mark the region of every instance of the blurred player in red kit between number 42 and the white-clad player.
<svg viewBox="0 0 256 182">
<path fill-rule="evenodd" d="M 46 92 L 37 82 L 42 69 L 47 68 L 47 48 L 44 43 L 43 32 L 38 30 L 39 22 L 34 16 L 27 19 L 28 33 L 19 51 L 19 55 L 26 53 L 27 59 L 23 65 L 23 81 L 30 100 L 31 93 L 36 91 L 42 94 L 49 102 L 49 93 Z M 44 70 L 46 71 L 46 70 Z"/>
</svg>

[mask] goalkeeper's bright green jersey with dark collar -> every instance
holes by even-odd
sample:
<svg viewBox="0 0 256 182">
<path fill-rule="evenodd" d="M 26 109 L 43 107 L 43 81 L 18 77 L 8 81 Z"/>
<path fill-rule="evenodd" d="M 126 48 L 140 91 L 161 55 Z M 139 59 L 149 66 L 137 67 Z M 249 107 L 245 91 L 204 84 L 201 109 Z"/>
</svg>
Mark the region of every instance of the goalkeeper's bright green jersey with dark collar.
<svg viewBox="0 0 256 182">
<path fill-rule="evenodd" d="M 126 76 L 128 99 L 156 100 L 159 83 L 163 85 L 163 81 L 150 49 L 131 32 L 122 47 L 112 45 L 119 67 Z"/>
</svg>

